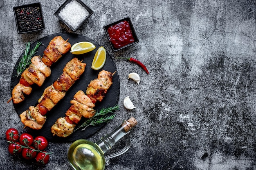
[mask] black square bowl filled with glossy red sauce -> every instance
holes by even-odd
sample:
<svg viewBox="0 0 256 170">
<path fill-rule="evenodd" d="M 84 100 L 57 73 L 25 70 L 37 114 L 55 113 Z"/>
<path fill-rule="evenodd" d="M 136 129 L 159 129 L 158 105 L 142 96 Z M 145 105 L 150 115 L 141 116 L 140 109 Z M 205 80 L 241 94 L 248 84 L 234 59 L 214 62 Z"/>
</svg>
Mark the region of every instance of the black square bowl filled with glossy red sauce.
<svg viewBox="0 0 256 170">
<path fill-rule="evenodd" d="M 114 51 L 139 42 L 129 17 L 103 26 L 103 28 Z"/>
</svg>

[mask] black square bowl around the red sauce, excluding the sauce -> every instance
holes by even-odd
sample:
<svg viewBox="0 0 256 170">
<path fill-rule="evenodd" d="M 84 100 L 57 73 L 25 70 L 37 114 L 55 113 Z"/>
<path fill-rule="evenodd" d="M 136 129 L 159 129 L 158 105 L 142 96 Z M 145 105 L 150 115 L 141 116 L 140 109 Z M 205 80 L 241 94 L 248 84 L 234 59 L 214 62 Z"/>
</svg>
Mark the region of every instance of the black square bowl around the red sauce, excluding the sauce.
<svg viewBox="0 0 256 170">
<path fill-rule="evenodd" d="M 114 26 L 114 25 L 116 25 L 116 24 L 119 24 L 119 23 L 122 22 L 122 21 L 127 21 L 127 22 L 129 23 L 130 29 L 131 29 L 131 32 L 132 32 L 132 37 L 134 38 L 134 41 L 133 41 L 132 43 L 126 44 L 125 46 L 122 46 L 122 47 L 120 47 L 120 48 L 115 48 L 115 47 L 113 46 L 113 44 L 111 43 L 111 41 L 110 41 L 110 36 L 111 36 L 111 35 L 109 35 L 109 33 L 108 33 L 108 28 L 110 28 L 110 26 Z M 138 37 L 137 37 L 137 35 L 136 35 L 136 33 L 135 33 L 134 27 L 133 27 L 132 22 L 131 22 L 131 20 L 130 20 L 129 17 L 126 17 L 126 18 L 124 18 L 124 19 L 122 19 L 122 20 L 118 20 L 118 21 L 116 21 L 116 22 L 113 22 L 113 23 L 111 23 L 111 24 L 108 24 L 108 25 L 106 25 L 106 26 L 103 26 L 103 28 L 104 28 L 104 31 L 105 31 L 105 33 L 106 33 L 106 35 L 107 35 L 107 37 L 108 37 L 109 42 L 110 42 L 110 46 L 112 47 L 112 49 L 113 49 L 114 51 L 121 50 L 121 49 L 123 49 L 123 48 L 126 48 L 126 47 L 128 47 L 128 46 L 131 46 L 131 45 L 136 44 L 136 43 L 139 42 L 139 39 L 138 39 Z"/>
</svg>

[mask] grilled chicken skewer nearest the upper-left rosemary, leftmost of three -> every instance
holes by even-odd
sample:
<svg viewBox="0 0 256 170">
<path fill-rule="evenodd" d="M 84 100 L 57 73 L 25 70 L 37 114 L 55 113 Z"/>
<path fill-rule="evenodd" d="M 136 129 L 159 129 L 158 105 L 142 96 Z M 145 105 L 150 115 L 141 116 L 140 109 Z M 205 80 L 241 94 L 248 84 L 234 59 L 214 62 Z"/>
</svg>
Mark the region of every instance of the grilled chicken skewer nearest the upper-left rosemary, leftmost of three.
<svg viewBox="0 0 256 170">
<path fill-rule="evenodd" d="M 67 41 L 68 39 L 64 40 L 61 36 L 56 36 L 44 50 L 43 57 L 32 57 L 31 64 L 22 72 L 19 83 L 12 90 L 11 99 L 14 104 L 25 100 L 24 94 L 31 93 L 32 84 L 37 84 L 39 87 L 43 85 L 45 78 L 51 75 L 50 66 L 70 50 L 71 44 Z"/>
</svg>

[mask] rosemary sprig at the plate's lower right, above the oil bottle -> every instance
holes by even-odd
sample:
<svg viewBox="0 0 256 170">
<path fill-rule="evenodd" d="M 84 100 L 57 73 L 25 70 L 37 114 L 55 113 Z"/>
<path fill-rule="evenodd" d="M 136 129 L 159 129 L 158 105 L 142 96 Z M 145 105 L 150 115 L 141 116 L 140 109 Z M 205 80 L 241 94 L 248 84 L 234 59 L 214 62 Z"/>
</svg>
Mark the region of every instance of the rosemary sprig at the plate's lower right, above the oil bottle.
<svg viewBox="0 0 256 170">
<path fill-rule="evenodd" d="M 83 128 L 81 131 L 84 131 L 88 126 L 96 126 L 102 123 L 108 123 L 111 119 L 115 117 L 115 114 L 107 115 L 108 113 L 113 113 L 114 111 L 119 110 L 119 105 L 115 105 L 114 107 L 102 108 L 100 111 L 97 111 L 92 118 L 87 119 L 83 124 L 81 124 L 78 129 Z"/>
</svg>

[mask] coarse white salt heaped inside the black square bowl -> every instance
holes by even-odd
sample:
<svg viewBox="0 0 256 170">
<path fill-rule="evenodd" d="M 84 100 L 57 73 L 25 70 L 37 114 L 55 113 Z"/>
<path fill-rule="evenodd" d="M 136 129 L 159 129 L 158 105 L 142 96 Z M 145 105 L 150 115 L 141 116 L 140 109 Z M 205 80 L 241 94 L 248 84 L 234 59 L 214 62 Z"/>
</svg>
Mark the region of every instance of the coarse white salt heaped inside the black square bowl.
<svg viewBox="0 0 256 170">
<path fill-rule="evenodd" d="M 74 29 L 76 29 L 88 15 L 89 12 L 76 0 L 72 0 L 70 3 L 66 4 L 59 13 L 59 16 Z"/>
</svg>

